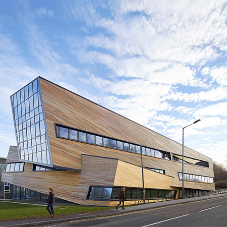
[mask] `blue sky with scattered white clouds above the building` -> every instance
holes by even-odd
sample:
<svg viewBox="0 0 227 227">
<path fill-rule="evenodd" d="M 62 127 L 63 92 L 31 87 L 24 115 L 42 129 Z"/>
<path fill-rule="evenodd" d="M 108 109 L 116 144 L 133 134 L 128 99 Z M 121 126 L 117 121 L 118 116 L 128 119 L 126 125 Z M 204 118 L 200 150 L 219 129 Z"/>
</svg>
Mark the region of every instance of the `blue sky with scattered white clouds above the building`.
<svg viewBox="0 0 227 227">
<path fill-rule="evenodd" d="M 227 163 L 227 1 L 0 0 L 0 156 L 10 95 L 42 76 Z"/>
</svg>

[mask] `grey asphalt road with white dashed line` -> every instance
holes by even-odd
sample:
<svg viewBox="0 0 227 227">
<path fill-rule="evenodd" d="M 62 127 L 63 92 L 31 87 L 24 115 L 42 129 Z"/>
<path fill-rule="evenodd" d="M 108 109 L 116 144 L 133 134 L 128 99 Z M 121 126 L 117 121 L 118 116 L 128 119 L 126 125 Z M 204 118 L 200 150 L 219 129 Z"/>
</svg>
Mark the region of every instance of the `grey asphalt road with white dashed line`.
<svg viewBox="0 0 227 227">
<path fill-rule="evenodd" d="M 227 197 L 159 207 L 118 216 L 57 224 L 57 227 L 227 226 Z M 127 209 L 127 207 L 126 207 Z"/>
</svg>

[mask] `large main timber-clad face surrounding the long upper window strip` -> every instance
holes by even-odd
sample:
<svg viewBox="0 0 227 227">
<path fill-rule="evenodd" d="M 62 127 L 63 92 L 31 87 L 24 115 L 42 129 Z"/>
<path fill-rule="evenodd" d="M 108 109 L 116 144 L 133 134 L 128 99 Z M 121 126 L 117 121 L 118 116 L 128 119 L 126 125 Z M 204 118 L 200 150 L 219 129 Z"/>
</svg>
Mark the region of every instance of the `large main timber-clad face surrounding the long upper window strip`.
<svg viewBox="0 0 227 227">
<path fill-rule="evenodd" d="M 40 83 L 54 165 L 81 169 L 81 154 L 117 158 L 134 165 L 141 164 L 138 154 L 56 138 L 54 123 L 181 154 L 181 144 L 49 81 L 40 78 Z M 209 168 L 185 164 L 185 173 L 213 177 L 210 158 L 187 147 L 185 155 L 210 163 Z M 144 156 L 144 166 L 166 170 L 166 175 L 174 177 L 171 186 L 179 185 L 178 172 L 181 172 L 181 163 Z"/>
</svg>

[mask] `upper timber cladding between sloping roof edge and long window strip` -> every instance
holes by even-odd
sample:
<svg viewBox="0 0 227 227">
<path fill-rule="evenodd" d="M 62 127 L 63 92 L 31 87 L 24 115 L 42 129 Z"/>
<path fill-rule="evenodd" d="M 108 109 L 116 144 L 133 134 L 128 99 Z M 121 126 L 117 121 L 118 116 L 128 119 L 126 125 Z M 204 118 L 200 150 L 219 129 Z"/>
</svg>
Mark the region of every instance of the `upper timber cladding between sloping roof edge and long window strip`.
<svg viewBox="0 0 227 227">
<path fill-rule="evenodd" d="M 48 133 L 54 123 L 181 154 L 181 144 L 143 127 L 81 96 L 40 78 Z M 185 156 L 204 161 L 210 158 L 188 147 Z"/>
</svg>

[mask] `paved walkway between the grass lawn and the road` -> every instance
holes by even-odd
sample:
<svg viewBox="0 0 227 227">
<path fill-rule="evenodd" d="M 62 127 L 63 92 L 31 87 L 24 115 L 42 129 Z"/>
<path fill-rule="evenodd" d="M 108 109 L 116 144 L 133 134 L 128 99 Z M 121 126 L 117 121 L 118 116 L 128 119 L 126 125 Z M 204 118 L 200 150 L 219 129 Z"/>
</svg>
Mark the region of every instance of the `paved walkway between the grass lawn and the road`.
<svg viewBox="0 0 227 227">
<path fill-rule="evenodd" d="M 132 212 L 148 210 L 148 209 L 152 209 L 152 208 L 156 208 L 156 207 L 189 203 L 189 202 L 199 201 L 199 200 L 207 200 L 207 199 L 221 197 L 221 196 L 227 197 L 227 194 L 193 197 L 193 198 L 178 199 L 178 200 L 171 200 L 171 201 L 164 201 L 164 202 L 157 202 L 157 203 L 147 203 L 147 204 L 126 207 L 125 210 L 122 210 L 121 208 L 119 208 L 118 210 L 111 209 L 111 210 L 104 210 L 104 211 L 98 211 L 98 212 L 92 212 L 92 213 L 57 216 L 55 218 L 36 218 L 36 219 L 26 219 L 26 220 L 17 220 L 17 221 L 7 221 L 7 222 L 0 222 L 0 226 L 5 226 L 5 227 L 17 227 L 18 226 L 19 227 L 19 226 L 54 225 L 57 223 L 64 223 L 64 222 L 69 222 L 69 221 L 114 216 L 114 215 L 118 215 L 121 213 L 132 213 Z"/>
</svg>

